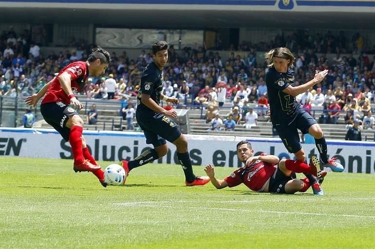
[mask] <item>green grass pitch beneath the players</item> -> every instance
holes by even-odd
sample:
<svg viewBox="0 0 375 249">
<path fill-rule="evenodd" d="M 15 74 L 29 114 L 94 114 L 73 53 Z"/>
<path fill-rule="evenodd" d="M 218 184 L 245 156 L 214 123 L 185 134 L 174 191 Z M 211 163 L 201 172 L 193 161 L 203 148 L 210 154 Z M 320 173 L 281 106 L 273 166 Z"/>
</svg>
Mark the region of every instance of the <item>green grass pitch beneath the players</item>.
<svg viewBox="0 0 375 249">
<path fill-rule="evenodd" d="M 271 195 L 186 187 L 180 166 L 161 164 L 103 188 L 72 163 L 0 158 L 1 249 L 375 248 L 375 175 L 329 172 L 324 196 Z"/>
</svg>

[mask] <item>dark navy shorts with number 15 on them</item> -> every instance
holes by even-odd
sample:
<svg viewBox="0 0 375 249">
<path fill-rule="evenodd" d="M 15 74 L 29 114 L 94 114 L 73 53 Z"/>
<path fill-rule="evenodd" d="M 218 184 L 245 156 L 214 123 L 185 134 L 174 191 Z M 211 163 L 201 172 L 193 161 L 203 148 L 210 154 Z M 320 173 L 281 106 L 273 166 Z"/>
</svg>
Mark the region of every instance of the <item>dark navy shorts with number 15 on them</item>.
<svg viewBox="0 0 375 249">
<path fill-rule="evenodd" d="M 176 141 L 181 132 L 178 125 L 169 117 L 157 113 L 143 113 L 139 110 L 136 112 L 137 123 L 143 130 L 146 137 L 146 143 L 152 144 L 154 147 Z"/>
</svg>

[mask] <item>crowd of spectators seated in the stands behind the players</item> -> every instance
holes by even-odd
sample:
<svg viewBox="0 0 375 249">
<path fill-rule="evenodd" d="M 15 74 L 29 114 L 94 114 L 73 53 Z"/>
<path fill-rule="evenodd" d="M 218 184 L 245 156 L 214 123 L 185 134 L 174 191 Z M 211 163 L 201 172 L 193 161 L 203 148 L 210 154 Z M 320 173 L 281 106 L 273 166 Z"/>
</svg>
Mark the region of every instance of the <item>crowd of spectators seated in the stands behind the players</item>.
<svg viewBox="0 0 375 249">
<path fill-rule="evenodd" d="M 278 35 L 268 42 L 252 44 L 243 41 L 223 61 L 219 52 L 206 50 L 205 45 L 197 48 L 183 48 L 176 53 L 169 47 L 169 65 L 164 70 L 163 94 L 183 100 L 183 104 L 207 107 L 206 122 L 210 129 L 233 130 L 243 124 L 247 128 L 257 125 L 258 116 L 267 117 L 267 88 L 264 82 L 266 67 L 257 62 L 257 52 L 286 46 L 294 52 L 296 85 L 314 77 L 315 71 L 329 70 L 328 76 L 316 87 L 297 96 L 306 109 L 321 107 L 320 123 L 338 123 L 344 116 L 348 128 L 355 121 L 363 128 L 372 128 L 371 104 L 375 94 L 375 56 L 369 58 L 365 52 L 363 37 L 356 34 L 351 41 L 343 32 L 339 36 L 327 34 L 312 36 L 308 31 L 292 36 Z M 40 44 L 39 44 L 40 45 Z M 74 38 L 70 48 L 48 55 L 40 53 L 38 43 L 31 40 L 25 30 L 18 35 L 11 28 L 0 35 L 0 95 L 16 96 L 16 87 L 22 96 L 30 95 L 49 82 L 56 72 L 76 60 L 85 60 L 94 44 Z M 74 48 L 74 49 L 72 49 Z M 236 51 L 246 51 L 241 57 Z M 317 54 L 321 54 L 318 56 Z M 325 53 L 336 53 L 328 60 Z M 340 53 L 349 54 L 342 56 Z M 129 58 L 124 51 L 112 53 L 106 75 L 88 78 L 81 94 L 93 99 L 128 99 L 136 96 L 142 71 L 152 62 L 152 55 L 142 51 L 137 58 Z M 218 110 L 225 102 L 231 103 L 224 121 Z M 253 109 L 254 103 L 256 107 Z M 125 108 L 126 110 L 131 107 Z M 165 108 L 171 108 L 167 105 Z M 338 110 L 347 111 L 345 115 Z M 131 111 L 132 112 L 132 111 Z M 128 115 L 128 118 L 131 114 Z M 368 117 L 368 118 L 366 118 Z"/>
</svg>

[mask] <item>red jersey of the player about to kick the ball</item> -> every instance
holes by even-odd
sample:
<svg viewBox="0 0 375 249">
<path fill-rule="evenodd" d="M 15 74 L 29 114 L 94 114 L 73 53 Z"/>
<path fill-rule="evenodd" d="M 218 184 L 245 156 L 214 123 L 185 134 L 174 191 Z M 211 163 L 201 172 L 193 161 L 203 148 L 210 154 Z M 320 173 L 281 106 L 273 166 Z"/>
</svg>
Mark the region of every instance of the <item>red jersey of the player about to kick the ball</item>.
<svg viewBox="0 0 375 249">
<path fill-rule="evenodd" d="M 72 76 L 70 84 L 73 94 L 77 94 L 82 89 L 82 86 L 85 84 L 85 81 L 89 76 L 89 69 L 86 61 L 76 61 L 69 64 L 55 77 L 44 96 L 42 104 L 60 101 L 66 105 L 69 105 L 70 100 L 68 95 L 62 89 L 61 84 L 58 81 L 58 76 L 60 76 L 63 72 L 67 72 Z"/>
</svg>

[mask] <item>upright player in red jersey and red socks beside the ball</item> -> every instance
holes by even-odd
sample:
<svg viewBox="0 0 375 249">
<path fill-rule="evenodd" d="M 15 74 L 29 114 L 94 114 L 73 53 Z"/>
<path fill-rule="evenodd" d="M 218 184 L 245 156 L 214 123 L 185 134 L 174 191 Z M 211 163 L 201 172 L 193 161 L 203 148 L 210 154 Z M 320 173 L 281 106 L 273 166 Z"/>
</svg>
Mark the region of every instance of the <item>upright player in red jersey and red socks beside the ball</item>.
<svg viewBox="0 0 375 249">
<path fill-rule="evenodd" d="M 39 99 L 44 96 L 40 112 L 44 120 L 52 125 L 72 146 L 74 171 L 93 172 L 104 187 L 107 186 L 104 181 L 104 172 L 87 148 L 86 140 L 82 136 L 83 120 L 74 108 L 81 109 L 83 107 L 75 94 L 83 88 L 89 73 L 93 76 L 103 74 L 110 61 L 110 53 L 102 48 L 94 48 L 87 61 L 76 61 L 69 64 L 37 94 L 29 96 L 25 100 L 26 104 L 35 107 Z"/>
</svg>

